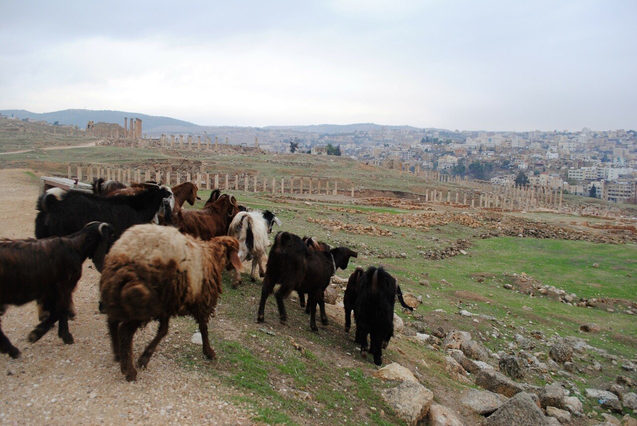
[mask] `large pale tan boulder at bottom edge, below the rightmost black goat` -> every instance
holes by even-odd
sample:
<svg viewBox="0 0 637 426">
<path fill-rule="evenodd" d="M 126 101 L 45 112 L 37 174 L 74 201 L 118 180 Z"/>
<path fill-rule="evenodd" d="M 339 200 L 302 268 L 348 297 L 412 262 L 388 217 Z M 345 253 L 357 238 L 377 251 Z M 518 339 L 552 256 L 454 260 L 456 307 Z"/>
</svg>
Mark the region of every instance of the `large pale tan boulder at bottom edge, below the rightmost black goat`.
<svg viewBox="0 0 637 426">
<path fill-rule="evenodd" d="M 414 381 L 403 381 L 397 387 L 385 390 L 382 395 L 396 414 L 413 426 L 427 416 L 434 400 L 431 390 Z"/>
</svg>

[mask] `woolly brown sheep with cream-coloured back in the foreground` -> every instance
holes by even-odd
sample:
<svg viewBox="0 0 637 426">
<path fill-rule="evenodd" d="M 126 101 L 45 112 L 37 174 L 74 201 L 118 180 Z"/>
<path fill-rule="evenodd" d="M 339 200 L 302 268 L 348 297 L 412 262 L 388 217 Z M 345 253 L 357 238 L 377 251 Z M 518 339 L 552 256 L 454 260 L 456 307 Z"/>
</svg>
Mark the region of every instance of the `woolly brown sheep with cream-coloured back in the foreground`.
<svg viewBox="0 0 637 426">
<path fill-rule="evenodd" d="M 183 235 L 169 226 L 133 226 L 106 256 L 99 289 L 108 315 L 115 361 L 126 380 L 137 378 L 132 338 L 140 326 L 159 320 L 157 336 L 138 359 L 146 368 L 176 315 L 191 315 L 199 324 L 203 353 L 217 355 L 208 340 L 208 320 L 222 292 L 224 268 L 242 270 L 239 242 L 232 237 L 210 241 Z"/>
</svg>

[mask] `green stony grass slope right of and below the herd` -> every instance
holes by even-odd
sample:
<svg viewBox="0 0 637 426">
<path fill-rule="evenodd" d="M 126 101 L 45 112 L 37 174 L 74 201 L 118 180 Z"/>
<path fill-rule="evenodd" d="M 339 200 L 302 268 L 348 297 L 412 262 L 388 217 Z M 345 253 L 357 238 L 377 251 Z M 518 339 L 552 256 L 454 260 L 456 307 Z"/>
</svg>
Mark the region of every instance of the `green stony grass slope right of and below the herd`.
<svg viewBox="0 0 637 426">
<path fill-rule="evenodd" d="M 420 295 L 424 303 L 416 313 L 423 315 L 427 330 L 443 326 L 445 330 L 469 331 L 483 341 L 490 350 L 507 350 L 516 333 L 540 330 L 549 336 L 578 336 L 596 348 L 612 355 L 634 358 L 637 351 L 637 324 L 634 317 L 623 313 L 606 312 L 598 308 L 578 308 L 543 296 L 531 297 L 503 288 L 514 283 L 512 274 L 526 273 L 541 284 L 555 285 L 578 297 L 617 298 L 635 300 L 637 294 L 637 247 L 634 245 L 606 245 L 566 240 L 534 238 L 473 239 L 466 256 L 431 261 L 417 252 L 420 247 L 444 247 L 455 238 L 471 238 L 480 233 L 464 226 L 450 224 L 436 226 L 427 232 L 409 228 L 392 228 L 394 237 L 352 235 L 343 231 L 324 230 L 308 223 L 308 217 L 331 218 L 347 223 L 368 223 L 365 214 L 331 212 L 319 203 L 275 203 L 263 195 L 233 193 L 241 203 L 250 207 L 275 210 L 283 221 L 283 230 L 299 235 L 315 235 L 331 245 L 348 245 L 360 253 L 354 265 L 382 263 L 399 280 L 403 291 Z M 208 192 L 200 191 L 206 200 Z M 201 207 L 203 203 L 195 207 Z M 376 211 L 356 206 L 356 209 Z M 399 209 L 380 209 L 403 212 Z M 371 224 L 371 223 L 369 223 Z M 405 237 L 401 237 L 405 233 Z M 378 252 L 405 252 L 406 259 L 380 259 Z M 367 253 L 367 254 L 366 254 Z M 593 268 L 599 263 L 599 268 Z M 339 271 L 341 277 L 354 269 Z M 478 279 L 482 277 L 482 279 Z M 275 424 L 401 424 L 382 401 L 380 392 L 386 383 L 371 377 L 375 366 L 361 359 L 353 336 L 343 331 L 342 308 L 328 305 L 330 324 L 319 326 L 312 333 L 307 315 L 296 299 L 286 301 L 289 312 L 287 326 L 278 323 L 273 298 L 266 305 L 266 323 L 256 324 L 257 303 L 261 294 L 260 282 L 252 284 L 244 278 L 238 289 L 224 282 L 225 291 L 218 308 L 218 333 L 213 333 L 213 346 L 220 361 L 202 361 L 199 348 L 180 349 L 174 356 L 182 360 L 184 368 L 194 368 L 210 374 L 221 386 L 233 388 L 233 401 L 254 412 L 255 420 Z M 430 287 L 419 284 L 428 280 Z M 450 284 L 443 284 L 443 280 Z M 623 301 L 620 302 L 624 303 Z M 436 310 L 445 312 L 436 312 Z M 462 317 L 460 309 L 489 315 L 507 327 L 498 326 L 485 317 Z M 406 324 L 410 315 L 396 312 Z M 189 333 L 196 331 L 191 320 L 181 320 Z M 580 324 L 595 322 L 601 333 L 580 334 Z M 512 327 L 515 327 L 513 329 Z M 494 338 L 494 329 L 499 337 Z M 304 348 L 303 353 L 294 344 Z M 538 342 L 534 349 L 546 359 L 548 347 Z M 431 388 L 436 401 L 462 412 L 465 424 L 480 419 L 462 411 L 457 404 L 459 392 L 466 389 L 452 381 L 444 371 L 444 352 L 431 350 L 408 338 L 395 338 L 385 351 L 384 361 L 399 362 L 419 375 L 421 383 Z M 593 361 L 603 365 L 602 371 L 585 367 Z M 585 387 L 602 388 L 612 383 L 618 374 L 627 374 L 609 359 L 587 350 L 576 354 L 576 364 L 582 372 L 568 378 L 583 392 Z M 564 379 L 559 374 L 554 380 Z M 543 385 L 545 378 L 529 376 L 529 383 Z M 589 411 L 594 404 L 585 402 Z M 585 422 L 582 424 L 586 424 Z"/>
</svg>

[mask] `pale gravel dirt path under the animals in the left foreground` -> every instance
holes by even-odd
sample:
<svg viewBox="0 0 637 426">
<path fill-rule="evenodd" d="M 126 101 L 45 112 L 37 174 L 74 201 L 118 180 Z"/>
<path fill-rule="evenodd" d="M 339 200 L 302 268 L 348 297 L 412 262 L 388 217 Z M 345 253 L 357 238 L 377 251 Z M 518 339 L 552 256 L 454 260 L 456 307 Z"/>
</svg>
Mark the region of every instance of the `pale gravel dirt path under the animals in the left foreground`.
<svg viewBox="0 0 637 426">
<path fill-rule="evenodd" d="M 0 237 L 33 236 L 38 182 L 24 172 L 0 170 Z M 64 345 L 55 327 L 37 343 L 28 343 L 27 334 L 37 324 L 34 303 L 8 307 L 2 317 L 3 330 L 22 357 L 12 360 L 0 354 L 0 423 L 252 423 L 248 413 L 224 401 L 228 395 L 218 383 L 183 369 L 169 354 L 172 351 L 161 347 L 149 369 L 140 371 L 138 381 L 127 383 L 113 362 L 104 315 L 97 312 L 98 281 L 99 274 L 87 261 L 74 296 L 77 317 L 70 323 L 74 345 Z M 155 329 L 150 324 L 136 334 L 136 354 L 152 339 Z M 162 345 L 192 345 L 190 334 L 179 333 L 173 323 Z"/>
</svg>

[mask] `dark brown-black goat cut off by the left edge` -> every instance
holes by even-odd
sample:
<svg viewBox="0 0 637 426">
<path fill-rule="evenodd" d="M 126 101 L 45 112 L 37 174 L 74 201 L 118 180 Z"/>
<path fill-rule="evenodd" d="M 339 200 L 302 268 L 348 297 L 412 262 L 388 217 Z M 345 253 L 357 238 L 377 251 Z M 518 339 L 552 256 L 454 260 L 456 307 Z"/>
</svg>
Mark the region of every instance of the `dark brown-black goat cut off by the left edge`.
<svg viewBox="0 0 637 426">
<path fill-rule="evenodd" d="M 68 237 L 0 240 L 0 315 L 6 305 L 37 300 L 49 314 L 29 333 L 29 341 L 38 341 L 58 322 L 57 335 L 64 343 L 73 343 L 69 310 L 82 263 L 92 258 L 96 265 L 103 264 L 113 231 L 108 223 L 92 222 Z M 1 328 L 0 352 L 20 356 Z"/>
</svg>

